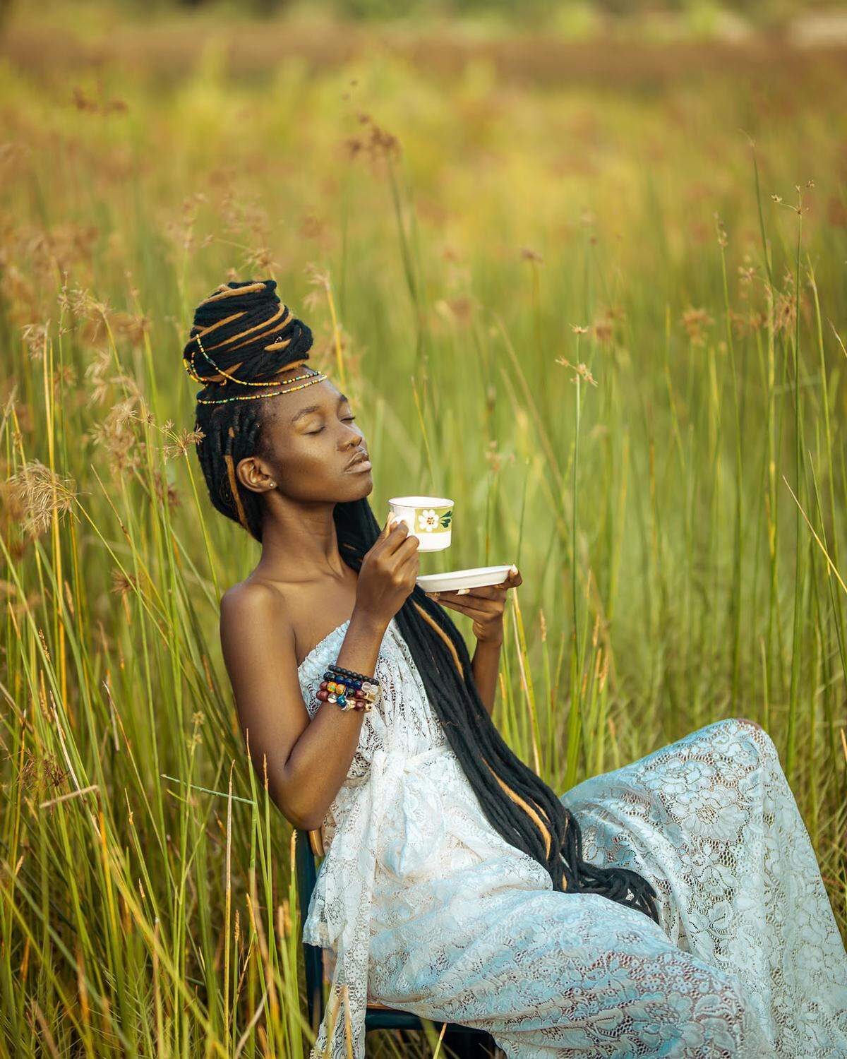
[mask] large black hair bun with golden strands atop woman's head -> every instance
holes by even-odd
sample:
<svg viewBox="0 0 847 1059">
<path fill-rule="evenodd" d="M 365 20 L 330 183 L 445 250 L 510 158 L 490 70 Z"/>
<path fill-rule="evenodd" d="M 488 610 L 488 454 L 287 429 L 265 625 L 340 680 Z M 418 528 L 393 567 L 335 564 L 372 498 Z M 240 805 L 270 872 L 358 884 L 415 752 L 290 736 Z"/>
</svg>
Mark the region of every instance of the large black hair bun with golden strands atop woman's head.
<svg viewBox="0 0 847 1059">
<path fill-rule="evenodd" d="M 275 280 L 232 281 L 197 306 L 182 359 L 198 382 L 256 382 L 305 363 L 312 341 L 280 301 Z"/>
</svg>

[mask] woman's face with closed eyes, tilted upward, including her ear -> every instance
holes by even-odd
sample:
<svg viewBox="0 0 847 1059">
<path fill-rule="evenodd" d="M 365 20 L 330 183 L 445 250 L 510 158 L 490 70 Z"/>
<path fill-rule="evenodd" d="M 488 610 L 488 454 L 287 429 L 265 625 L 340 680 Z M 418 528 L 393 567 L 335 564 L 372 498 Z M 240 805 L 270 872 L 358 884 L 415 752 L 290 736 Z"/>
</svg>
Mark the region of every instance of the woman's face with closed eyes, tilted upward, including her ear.
<svg viewBox="0 0 847 1059">
<path fill-rule="evenodd" d="M 303 374 L 302 365 L 280 381 L 295 374 Z M 340 502 L 373 490 L 371 463 L 361 460 L 367 446 L 355 409 L 328 379 L 263 403 L 262 444 L 253 459 L 282 493 L 294 500 Z M 358 466 L 350 467 L 350 461 Z"/>
</svg>

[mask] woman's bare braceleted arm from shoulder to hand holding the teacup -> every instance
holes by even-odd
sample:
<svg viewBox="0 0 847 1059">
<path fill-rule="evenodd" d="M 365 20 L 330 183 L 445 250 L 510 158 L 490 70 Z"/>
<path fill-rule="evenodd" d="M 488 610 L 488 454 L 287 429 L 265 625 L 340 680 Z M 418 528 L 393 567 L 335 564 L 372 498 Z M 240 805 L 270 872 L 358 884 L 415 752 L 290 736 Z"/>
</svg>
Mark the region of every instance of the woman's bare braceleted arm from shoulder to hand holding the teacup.
<svg viewBox="0 0 847 1059">
<path fill-rule="evenodd" d="M 417 548 L 399 522 L 386 524 L 364 556 L 338 665 L 375 672 L 389 622 L 415 587 Z M 324 701 L 309 717 L 293 631 L 275 589 L 260 582 L 230 589 L 220 602 L 220 638 L 259 782 L 267 770 L 268 793 L 295 827 L 320 827 L 347 776 L 364 713 Z"/>
</svg>

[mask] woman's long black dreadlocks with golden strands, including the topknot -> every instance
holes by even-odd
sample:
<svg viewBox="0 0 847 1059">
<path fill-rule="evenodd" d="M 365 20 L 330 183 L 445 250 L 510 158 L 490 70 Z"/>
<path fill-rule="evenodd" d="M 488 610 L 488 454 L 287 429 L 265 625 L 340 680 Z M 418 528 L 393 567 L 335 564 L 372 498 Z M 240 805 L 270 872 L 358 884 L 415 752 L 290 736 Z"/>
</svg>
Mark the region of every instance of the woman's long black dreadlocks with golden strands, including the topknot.
<svg viewBox="0 0 847 1059">
<path fill-rule="evenodd" d="M 270 383 L 282 371 L 305 364 L 311 331 L 281 305 L 275 287 L 273 280 L 221 284 L 198 306 L 183 351 L 192 377 L 205 383 L 197 395 L 196 429 L 205 435 L 197 451 L 212 503 L 259 542 L 262 503 L 241 487 L 235 467 L 262 452 L 263 403 L 202 401 L 270 393 L 270 387 L 250 383 Z M 358 572 L 379 537 L 379 522 L 366 497 L 337 503 L 334 519 L 341 556 Z M 659 922 L 656 894 L 645 878 L 583 860 L 576 818 L 500 735 L 480 698 L 464 638 L 447 611 L 415 586 L 396 618 L 447 740 L 498 833 L 543 864 L 554 890 L 600 894 Z"/>
</svg>

